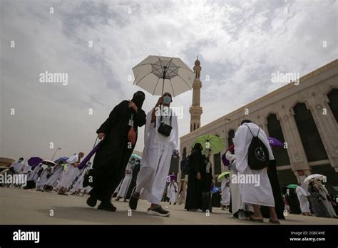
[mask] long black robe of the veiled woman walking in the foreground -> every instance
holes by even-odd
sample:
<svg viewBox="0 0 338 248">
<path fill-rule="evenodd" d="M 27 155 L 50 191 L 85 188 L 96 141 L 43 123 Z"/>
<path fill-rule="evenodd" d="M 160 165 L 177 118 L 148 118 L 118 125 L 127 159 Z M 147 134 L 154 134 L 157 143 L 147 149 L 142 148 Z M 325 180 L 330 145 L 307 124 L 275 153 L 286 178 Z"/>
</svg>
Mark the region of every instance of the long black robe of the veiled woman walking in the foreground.
<svg viewBox="0 0 338 248">
<path fill-rule="evenodd" d="M 89 184 L 93 189 L 89 195 L 101 201 L 111 200 L 133 153 L 135 145 L 130 145 L 128 140 L 131 114 L 133 113 L 135 132 L 138 127 L 145 125 L 145 112 L 138 108 L 138 113 L 135 113 L 128 103 L 128 100 L 123 100 L 116 105 L 108 119 L 96 131 L 106 134 L 106 137 L 94 157 L 93 170 L 88 173 L 93 176 L 93 182 Z"/>
</svg>

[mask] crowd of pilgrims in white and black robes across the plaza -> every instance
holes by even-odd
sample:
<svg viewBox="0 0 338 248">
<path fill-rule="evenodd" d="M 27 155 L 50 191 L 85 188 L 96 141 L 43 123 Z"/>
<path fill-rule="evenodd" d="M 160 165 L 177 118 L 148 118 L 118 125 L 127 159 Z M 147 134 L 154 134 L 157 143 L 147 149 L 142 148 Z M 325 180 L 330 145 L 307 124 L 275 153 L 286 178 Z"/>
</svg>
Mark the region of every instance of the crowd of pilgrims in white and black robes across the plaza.
<svg viewBox="0 0 338 248">
<path fill-rule="evenodd" d="M 337 198 L 329 195 L 320 180 L 312 180 L 309 187 L 300 185 L 295 190 L 282 190 L 277 177 L 276 160 L 267 135 L 250 120 L 243 120 L 237 128 L 233 145 L 225 156 L 230 173 L 222 178 L 220 190 L 215 190 L 210 162 L 211 151 L 203 150 L 196 143 L 189 156 L 188 182 L 180 185 L 171 173 L 170 161 L 178 153 L 178 120 L 170 109 L 173 98 L 164 93 L 148 114 L 142 110 L 145 94 L 134 93 L 131 100 L 123 100 L 111 111 L 107 120 L 96 131 L 101 140 L 93 159 L 81 170 L 78 165 L 83 153 L 74 154 L 55 166 L 43 168 L 42 164 L 29 169 L 23 158 L 10 167 L 11 173 L 28 175 L 25 189 L 35 188 L 44 192 L 55 190 L 59 195 L 89 195 L 86 204 L 99 210 L 116 211 L 112 199 L 128 201 L 131 210 L 136 210 L 139 199 L 148 200 L 148 215 L 168 217 L 160 202 L 184 205 L 191 212 L 212 212 L 212 207 L 221 207 L 238 219 L 252 222 L 280 224 L 286 213 L 337 217 Z M 166 115 L 157 110 L 166 110 Z M 131 155 L 137 142 L 138 128 L 145 126 L 142 161 Z M 267 148 L 268 165 L 253 170 L 248 165 L 248 153 L 252 136 L 256 135 Z M 131 144 L 131 147 L 130 147 Z M 257 182 L 232 182 L 233 175 L 255 175 Z M 91 179 L 91 180 L 90 180 Z M 253 185 L 255 184 L 255 185 Z M 20 187 L 20 185 L 15 185 Z"/>
</svg>

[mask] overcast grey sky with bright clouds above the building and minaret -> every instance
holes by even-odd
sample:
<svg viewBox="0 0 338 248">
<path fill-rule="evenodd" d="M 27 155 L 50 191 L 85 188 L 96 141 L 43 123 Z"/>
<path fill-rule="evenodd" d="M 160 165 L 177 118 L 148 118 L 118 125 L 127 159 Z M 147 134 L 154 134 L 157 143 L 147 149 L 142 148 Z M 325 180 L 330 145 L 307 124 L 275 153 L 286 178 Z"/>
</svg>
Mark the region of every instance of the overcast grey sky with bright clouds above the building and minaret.
<svg viewBox="0 0 338 248">
<path fill-rule="evenodd" d="M 302 76 L 338 58 L 334 0 L 0 2 L 1 157 L 88 153 L 112 108 L 140 89 L 128 78 L 150 54 L 191 68 L 199 56 L 202 125 L 283 86 L 272 73 Z M 68 73 L 68 84 L 40 83 L 45 71 Z M 180 136 L 191 97 L 173 102 Z M 157 100 L 146 93 L 143 108 Z M 143 150 L 143 128 L 139 138 Z"/>
</svg>

